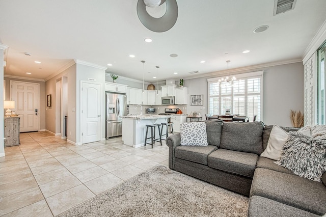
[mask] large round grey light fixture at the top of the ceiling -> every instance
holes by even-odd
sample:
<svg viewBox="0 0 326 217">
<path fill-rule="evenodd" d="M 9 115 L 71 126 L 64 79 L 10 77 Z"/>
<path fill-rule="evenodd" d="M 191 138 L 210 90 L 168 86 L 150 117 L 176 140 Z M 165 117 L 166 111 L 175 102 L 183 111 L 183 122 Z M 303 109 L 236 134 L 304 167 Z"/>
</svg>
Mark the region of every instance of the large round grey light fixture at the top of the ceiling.
<svg viewBox="0 0 326 217">
<path fill-rule="evenodd" d="M 148 7 L 159 7 L 166 4 L 166 12 L 162 17 L 156 18 L 151 16 L 147 10 Z M 178 5 L 176 0 L 138 0 L 137 15 L 143 25 L 150 31 L 162 33 L 170 30 L 177 22 Z"/>
</svg>

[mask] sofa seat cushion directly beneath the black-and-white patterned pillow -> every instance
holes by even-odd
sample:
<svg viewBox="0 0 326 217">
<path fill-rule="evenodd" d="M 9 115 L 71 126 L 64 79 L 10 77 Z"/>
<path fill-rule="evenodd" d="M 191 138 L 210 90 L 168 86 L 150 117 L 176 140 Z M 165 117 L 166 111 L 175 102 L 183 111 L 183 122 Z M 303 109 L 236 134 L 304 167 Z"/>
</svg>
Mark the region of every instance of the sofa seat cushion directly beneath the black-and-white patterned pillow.
<svg viewBox="0 0 326 217">
<path fill-rule="evenodd" d="M 208 146 L 178 146 L 175 149 L 175 157 L 207 165 L 207 156 L 218 147 Z"/>
</svg>

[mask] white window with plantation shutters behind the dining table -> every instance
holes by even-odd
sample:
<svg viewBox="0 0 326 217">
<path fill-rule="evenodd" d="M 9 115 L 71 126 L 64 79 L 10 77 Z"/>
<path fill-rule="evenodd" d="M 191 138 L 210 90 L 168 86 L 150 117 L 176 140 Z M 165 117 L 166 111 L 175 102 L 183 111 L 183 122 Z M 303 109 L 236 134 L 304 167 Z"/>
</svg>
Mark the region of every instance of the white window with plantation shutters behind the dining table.
<svg viewBox="0 0 326 217">
<path fill-rule="evenodd" d="M 233 115 L 248 116 L 252 121 L 262 120 L 263 71 L 234 75 L 232 85 L 218 83 L 220 77 L 208 78 L 208 108 L 211 115 L 225 115 L 230 109 Z"/>
</svg>

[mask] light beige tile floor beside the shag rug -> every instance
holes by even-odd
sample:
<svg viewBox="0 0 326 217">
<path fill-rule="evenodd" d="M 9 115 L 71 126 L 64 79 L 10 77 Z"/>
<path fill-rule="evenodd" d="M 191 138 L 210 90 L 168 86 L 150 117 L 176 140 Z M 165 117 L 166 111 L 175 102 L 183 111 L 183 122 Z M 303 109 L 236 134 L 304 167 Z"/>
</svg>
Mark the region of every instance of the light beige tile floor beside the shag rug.
<svg viewBox="0 0 326 217">
<path fill-rule="evenodd" d="M 122 139 L 74 146 L 48 132 L 20 133 L 0 157 L 0 216 L 56 216 L 155 166 L 168 146 Z"/>
</svg>

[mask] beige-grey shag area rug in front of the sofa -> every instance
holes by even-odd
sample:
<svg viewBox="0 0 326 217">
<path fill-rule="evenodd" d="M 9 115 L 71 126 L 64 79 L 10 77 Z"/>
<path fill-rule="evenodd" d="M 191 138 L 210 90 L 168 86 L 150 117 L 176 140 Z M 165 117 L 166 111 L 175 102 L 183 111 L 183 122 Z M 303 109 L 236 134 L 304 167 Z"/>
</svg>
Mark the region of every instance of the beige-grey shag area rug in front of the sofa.
<svg viewBox="0 0 326 217">
<path fill-rule="evenodd" d="M 249 198 L 157 166 L 59 216 L 247 216 Z"/>
</svg>

